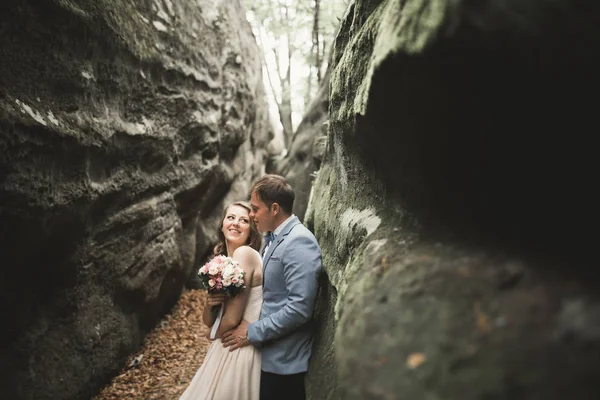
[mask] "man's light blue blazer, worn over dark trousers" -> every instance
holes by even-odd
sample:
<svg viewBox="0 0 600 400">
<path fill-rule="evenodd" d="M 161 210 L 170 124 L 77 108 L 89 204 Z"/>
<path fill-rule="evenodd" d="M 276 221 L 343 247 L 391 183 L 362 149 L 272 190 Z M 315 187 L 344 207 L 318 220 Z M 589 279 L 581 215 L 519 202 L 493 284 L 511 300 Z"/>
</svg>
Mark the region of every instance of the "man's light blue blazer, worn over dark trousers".
<svg viewBox="0 0 600 400">
<path fill-rule="evenodd" d="M 263 371 L 290 375 L 308 369 L 321 270 L 317 240 L 292 218 L 265 254 L 260 319 L 248 326 L 250 342 L 261 347 Z"/>
</svg>

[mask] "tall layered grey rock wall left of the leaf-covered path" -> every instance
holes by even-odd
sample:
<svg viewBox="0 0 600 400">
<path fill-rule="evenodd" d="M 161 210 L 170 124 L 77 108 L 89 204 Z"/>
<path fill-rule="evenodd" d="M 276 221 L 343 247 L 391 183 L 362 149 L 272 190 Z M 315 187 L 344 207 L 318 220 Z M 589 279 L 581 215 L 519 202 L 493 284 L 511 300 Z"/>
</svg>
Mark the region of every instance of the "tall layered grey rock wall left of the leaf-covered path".
<svg viewBox="0 0 600 400">
<path fill-rule="evenodd" d="M 2 397 L 89 399 L 270 140 L 237 0 L 0 5 Z"/>
</svg>

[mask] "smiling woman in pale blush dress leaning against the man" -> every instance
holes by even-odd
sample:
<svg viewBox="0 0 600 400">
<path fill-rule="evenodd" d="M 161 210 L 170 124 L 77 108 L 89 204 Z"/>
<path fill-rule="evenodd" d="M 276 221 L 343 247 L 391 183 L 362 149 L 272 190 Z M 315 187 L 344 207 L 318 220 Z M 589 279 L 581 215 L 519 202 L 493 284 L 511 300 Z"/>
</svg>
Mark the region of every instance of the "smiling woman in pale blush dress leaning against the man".
<svg viewBox="0 0 600 400">
<path fill-rule="evenodd" d="M 261 234 L 250 219 L 250 205 L 235 202 L 227 207 L 219 225 L 219 243 L 214 255 L 226 255 L 240 263 L 246 272 L 246 289 L 235 297 L 209 294 L 203 320 L 213 327 L 219 306 L 224 313 L 215 340 L 204 362 L 180 400 L 257 400 L 260 391 L 261 358 L 254 346 L 229 351 L 221 344 L 221 335 L 235 328 L 242 319 L 257 321 L 262 306 L 262 258 L 257 250 Z"/>
</svg>

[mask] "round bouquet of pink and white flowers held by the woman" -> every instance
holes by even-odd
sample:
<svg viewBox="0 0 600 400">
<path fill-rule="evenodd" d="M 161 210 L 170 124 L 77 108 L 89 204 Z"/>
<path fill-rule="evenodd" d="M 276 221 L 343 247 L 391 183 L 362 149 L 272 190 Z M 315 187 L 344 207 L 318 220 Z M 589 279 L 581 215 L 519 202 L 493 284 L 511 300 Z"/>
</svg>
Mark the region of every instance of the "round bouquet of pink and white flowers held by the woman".
<svg viewBox="0 0 600 400">
<path fill-rule="evenodd" d="M 225 293 L 231 297 L 246 287 L 245 274 L 237 261 L 223 255 L 214 257 L 198 271 L 204 289 L 211 293 Z"/>
</svg>

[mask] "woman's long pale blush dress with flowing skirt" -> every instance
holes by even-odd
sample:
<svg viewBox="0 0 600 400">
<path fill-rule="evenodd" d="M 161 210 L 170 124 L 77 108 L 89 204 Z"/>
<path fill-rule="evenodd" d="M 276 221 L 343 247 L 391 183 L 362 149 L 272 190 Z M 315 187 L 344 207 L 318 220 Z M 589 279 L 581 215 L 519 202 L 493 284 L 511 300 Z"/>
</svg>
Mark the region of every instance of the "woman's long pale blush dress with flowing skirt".
<svg viewBox="0 0 600 400">
<path fill-rule="evenodd" d="M 243 319 L 257 321 L 262 301 L 262 285 L 250 288 Z M 254 346 L 229 351 L 221 339 L 215 339 L 179 400 L 258 400 L 260 362 L 260 352 Z"/>
</svg>

